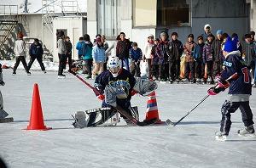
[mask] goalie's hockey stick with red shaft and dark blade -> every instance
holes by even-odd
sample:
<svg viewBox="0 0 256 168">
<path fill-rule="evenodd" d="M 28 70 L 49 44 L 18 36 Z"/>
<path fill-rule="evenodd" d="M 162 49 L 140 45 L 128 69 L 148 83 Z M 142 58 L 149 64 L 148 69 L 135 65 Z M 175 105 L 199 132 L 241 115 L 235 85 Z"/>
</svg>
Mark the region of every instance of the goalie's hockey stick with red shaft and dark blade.
<svg viewBox="0 0 256 168">
<path fill-rule="evenodd" d="M 76 76 L 77 78 L 79 78 L 80 81 L 83 81 L 83 83 L 87 86 L 90 87 L 90 89 L 95 92 L 95 94 L 98 96 L 101 93 L 95 88 L 92 87 L 90 85 L 90 83 L 88 83 L 87 81 L 85 81 L 82 77 L 80 77 L 79 75 L 77 75 L 74 71 L 70 70 L 69 71 L 71 74 L 73 74 L 74 76 Z M 112 106 L 113 107 L 113 106 Z M 131 122 L 137 126 L 148 126 L 150 124 L 154 124 L 154 122 L 156 122 L 156 119 L 151 119 L 151 120 L 144 120 L 144 121 L 139 121 L 136 118 L 134 118 L 133 116 L 131 116 L 125 109 L 122 109 L 121 107 L 119 107 L 119 105 L 117 105 L 117 107 L 113 107 L 113 109 L 116 109 L 119 114 L 121 115 L 125 115 L 125 117 L 129 120 L 131 120 Z"/>
</svg>

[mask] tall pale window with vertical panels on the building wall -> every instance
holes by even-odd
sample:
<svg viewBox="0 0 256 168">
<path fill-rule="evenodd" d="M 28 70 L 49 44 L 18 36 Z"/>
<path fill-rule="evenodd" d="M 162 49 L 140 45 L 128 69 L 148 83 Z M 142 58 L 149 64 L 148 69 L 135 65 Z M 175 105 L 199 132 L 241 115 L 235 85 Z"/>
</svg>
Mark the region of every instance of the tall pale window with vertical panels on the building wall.
<svg viewBox="0 0 256 168">
<path fill-rule="evenodd" d="M 119 33 L 119 0 L 97 1 L 98 33 L 105 36 L 117 36 Z"/>
</svg>

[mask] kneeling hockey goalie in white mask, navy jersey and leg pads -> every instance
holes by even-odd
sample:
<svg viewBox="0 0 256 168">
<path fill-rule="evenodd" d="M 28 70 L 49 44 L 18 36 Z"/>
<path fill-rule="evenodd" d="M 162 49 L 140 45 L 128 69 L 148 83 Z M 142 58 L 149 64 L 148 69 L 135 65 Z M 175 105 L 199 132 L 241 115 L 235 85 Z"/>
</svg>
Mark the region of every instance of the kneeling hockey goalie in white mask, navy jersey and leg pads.
<svg viewBox="0 0 256 168">
<path fill-rule="evenodd" d="M 104 117 L 98 122 L 96 122 L 97 113 L 90 113 L 88 119 L 85 119 L 86 116 L 81 114 L 77 118 L 76 114 L 77 123 L 73 124 L 75 127 L 97 126 L 104 123 L 117 113 L 113 108 L 117 105 L 138 120 L 139 115 L 137 109 L 131 108 L 131 96 L 136 93 L 145 96 L 157 88 L 154 81 L 142 79 L 136 81 L 135 77 L 128 70 L 122 68 L 122 61 L 118 57 L 110 57 L 107 68 L 108 70 L 96 76 L 95 88 L 100 92 L 96 97 L 102 100 L 102 108 L 109 108 L 108 113 L 106 113 L 106 110 L 100 111 Z M 131 121 L 126 119 L 124 115 L 121 115 L 121 117 L 125 119 L 127 124 L 131 124 Z"/>
</svg>

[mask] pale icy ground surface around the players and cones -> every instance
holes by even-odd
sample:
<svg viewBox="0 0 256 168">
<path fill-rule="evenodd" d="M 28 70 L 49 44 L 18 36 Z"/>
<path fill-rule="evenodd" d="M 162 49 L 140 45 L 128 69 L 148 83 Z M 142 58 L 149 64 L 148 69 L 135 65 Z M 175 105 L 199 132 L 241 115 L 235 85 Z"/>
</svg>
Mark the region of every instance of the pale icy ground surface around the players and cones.
<svg viewBox="0 0 256 168">
<path fill-rule="evenodd" d="M 22 66 L 22 65 L 21 65 Z M 0 155 L 10 168 L 20 167 L 255 167 L 256 138 L 242 138 L 236 131 L 243 124 L 241 113 L 232 115 L 230 141 L 216 142 L 220 107 L 227 92 L 212 96 L 185 118 L 172 126 L 117 126 L 74 129 L 71 115 L 93 109 L 100 102 L 84 84 L 67 74 L 57 79 L 55 71 L 3 70 L 6 82 L 1 87 L 4 109 L 15 122 L 0 124 Z M 92 80 L 88 80 L 92 83 Z M 32 87 L 38 83 L 45 125 L 53 129 L 22 130 L 28 125 Z M 207 94 L 208 85 L 159 84 L 157 103 L 160 119 L 178 120 Z M 147 98 L 135 96 L 140 120 L 144 119 Z M 254 120 L 256 95 L 251 107 Z"/>
</svg>

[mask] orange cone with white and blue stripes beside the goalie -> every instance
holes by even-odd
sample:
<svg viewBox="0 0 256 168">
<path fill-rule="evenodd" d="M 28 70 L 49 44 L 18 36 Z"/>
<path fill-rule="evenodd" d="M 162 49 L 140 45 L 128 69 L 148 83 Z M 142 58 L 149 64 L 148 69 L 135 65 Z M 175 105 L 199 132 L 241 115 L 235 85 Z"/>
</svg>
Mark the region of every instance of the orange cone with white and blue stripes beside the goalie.
<svg viewBox="0 0 256 168">
<path fill-rule="evenodd" d="M 154 118 L 158 120 L 156 122 L 156 124 L 164 123 L 164 121 L 161 121 L 160 118 L 159 118 L 155 92 L 151 92 L 148 95 L 147 113 L 146 113 L 146 119 L 145 120 L 151 120 L 151 119 L 154 119 Z"/>
</svg>

